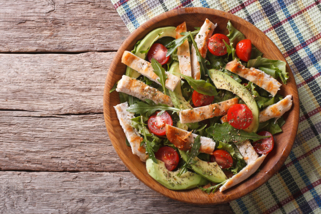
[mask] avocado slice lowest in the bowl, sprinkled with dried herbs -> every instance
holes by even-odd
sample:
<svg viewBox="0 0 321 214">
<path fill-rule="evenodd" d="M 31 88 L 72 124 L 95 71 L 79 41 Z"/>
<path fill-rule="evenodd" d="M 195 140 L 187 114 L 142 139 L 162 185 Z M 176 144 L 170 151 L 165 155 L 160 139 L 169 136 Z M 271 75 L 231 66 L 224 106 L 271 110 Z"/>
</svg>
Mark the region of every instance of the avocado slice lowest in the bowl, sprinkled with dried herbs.
<svg viewBox="0 0 321 214">
<path fill-rule="evenodd" d="M 171 190 L 185 190 L 208 184 L 208 180 L 193 172 L 187 171 L 178 177 L 179 170 L 169 171 L 165 163 L 160 160 L 155 163 L 152 159 L 147 159 L 146 169 L 152 178 Z"/>
</svg>

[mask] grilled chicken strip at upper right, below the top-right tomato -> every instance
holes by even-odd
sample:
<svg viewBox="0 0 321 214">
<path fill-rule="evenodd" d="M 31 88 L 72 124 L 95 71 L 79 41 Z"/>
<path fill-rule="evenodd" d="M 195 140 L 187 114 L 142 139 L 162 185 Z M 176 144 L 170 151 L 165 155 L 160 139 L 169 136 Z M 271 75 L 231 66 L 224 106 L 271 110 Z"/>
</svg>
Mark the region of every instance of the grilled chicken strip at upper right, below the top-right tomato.
<svg viewBox="0 0 321 214">
<path fill-rule="evenodd" d="M 235 73 L 268 91 L 273 95 L 273 97 L 278 92 L 278 90 L 280 90 L 280 87 L 282 85 L 272 76 L 266 74 L 261 70 L 258 70 L 256 68 L 246 68 L 244 65 L 240 64 L 237 59 L 228 62 L 225 68 L 230 72 Z"/>
</svg>

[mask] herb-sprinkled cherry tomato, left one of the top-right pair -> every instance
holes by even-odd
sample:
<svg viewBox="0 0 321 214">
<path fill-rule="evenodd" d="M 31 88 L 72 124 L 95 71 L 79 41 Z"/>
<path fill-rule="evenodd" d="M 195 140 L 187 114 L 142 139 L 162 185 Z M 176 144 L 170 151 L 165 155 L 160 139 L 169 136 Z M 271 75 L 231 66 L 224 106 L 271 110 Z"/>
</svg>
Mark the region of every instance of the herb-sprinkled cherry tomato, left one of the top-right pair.
<svg viewBox="0 0 321 214">
<path fill-rule="evenodd" d="M 225 44 L 230 45 L 230 39 L 221 33 L 215 33 L 209 40 L 208 40 L 208 50 L 215 56 L 223 56 L 227 54 L 227 49 Z"/>
</svg>

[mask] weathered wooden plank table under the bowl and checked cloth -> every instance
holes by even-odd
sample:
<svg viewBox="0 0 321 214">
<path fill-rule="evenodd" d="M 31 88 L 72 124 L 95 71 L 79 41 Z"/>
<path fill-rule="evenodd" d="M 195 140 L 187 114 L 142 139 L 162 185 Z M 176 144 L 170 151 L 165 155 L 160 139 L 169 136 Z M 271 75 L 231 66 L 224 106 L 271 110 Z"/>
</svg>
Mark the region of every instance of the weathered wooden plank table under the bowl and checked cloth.
<svg viewBox="0 0 321 214">
<path fill-rule="evenodd" d="M 118 158 L 102 95 L 128 35 L 110 1 L 0 0 L 0 213 L 232 213 L 166 198 Z"/>
</svg>

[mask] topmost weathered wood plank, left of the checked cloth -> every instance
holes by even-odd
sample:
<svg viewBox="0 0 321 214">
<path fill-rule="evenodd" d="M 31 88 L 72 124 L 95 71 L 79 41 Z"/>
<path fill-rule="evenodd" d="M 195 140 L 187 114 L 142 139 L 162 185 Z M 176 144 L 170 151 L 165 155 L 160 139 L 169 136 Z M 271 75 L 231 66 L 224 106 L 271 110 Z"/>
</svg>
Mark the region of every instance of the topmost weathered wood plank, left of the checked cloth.
<svg viewBox="0 0 321 214">
<path fill-rule="evenodd" d="M 0 0 L 0 52 L 117 50 L 130 34 L 110 1 Z"/>
</svg>

